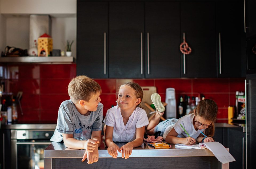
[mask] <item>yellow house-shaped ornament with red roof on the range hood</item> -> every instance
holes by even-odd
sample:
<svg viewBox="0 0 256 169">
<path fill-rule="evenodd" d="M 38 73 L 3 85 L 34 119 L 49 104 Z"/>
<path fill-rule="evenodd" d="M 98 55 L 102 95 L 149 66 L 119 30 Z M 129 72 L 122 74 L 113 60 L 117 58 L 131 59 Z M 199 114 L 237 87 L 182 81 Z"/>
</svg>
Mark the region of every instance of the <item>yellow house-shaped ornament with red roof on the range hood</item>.
<svg viewBox="0 0 256 169">
<path fill-rule="evenodd" d="M 38 38 L 38 56 L 52 56 L 53 39 L 46 33 Z"/>
</svg>

